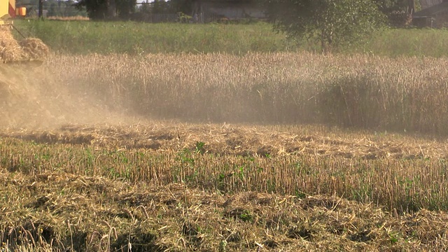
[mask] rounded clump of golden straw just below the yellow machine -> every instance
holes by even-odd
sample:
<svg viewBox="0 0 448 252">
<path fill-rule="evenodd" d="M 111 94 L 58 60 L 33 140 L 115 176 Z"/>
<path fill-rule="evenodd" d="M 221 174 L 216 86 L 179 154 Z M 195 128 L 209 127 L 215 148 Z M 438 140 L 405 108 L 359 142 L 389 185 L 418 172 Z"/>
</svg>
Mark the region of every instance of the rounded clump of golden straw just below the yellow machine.
<svg viewBox="0 0 448 252">
<path fill-rule="evenodd" d="M 16 41 L 8 27 L 0 28 L 0 62 L 20 62 L 43 59 L 48 55 L 48 46 L 38 38 Z"/>
</svg>

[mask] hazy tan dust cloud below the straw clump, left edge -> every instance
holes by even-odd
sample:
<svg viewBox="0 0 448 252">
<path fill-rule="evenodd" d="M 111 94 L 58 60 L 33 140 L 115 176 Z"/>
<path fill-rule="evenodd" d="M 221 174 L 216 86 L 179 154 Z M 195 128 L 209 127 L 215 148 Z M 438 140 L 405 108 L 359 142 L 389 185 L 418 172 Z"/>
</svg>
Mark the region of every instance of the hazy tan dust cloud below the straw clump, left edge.
<svg viewBox="0 0 448 252">
<path fill-rule="evenodd" d="M 133 121 L 140 119 L 128 116 L 125 110 L 111 111 L 88 90 L 73 91 L 52 76 L 45 64 L 0 64 L 0 127 L 3 130 Z"/>
</svg>

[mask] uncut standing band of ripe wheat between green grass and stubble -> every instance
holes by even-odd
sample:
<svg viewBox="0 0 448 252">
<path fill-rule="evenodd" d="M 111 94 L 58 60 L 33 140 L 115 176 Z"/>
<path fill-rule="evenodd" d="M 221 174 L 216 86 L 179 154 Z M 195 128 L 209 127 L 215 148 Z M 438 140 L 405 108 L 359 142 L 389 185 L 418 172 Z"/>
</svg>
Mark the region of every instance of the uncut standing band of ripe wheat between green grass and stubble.
<svg viewBox="0 0 448 252">
<path fill-rule="evenodd" d="M 67 85 L 142 116 L 448 132 L 444 58 L 284 52 L 52 60 Z"/>
</svg>

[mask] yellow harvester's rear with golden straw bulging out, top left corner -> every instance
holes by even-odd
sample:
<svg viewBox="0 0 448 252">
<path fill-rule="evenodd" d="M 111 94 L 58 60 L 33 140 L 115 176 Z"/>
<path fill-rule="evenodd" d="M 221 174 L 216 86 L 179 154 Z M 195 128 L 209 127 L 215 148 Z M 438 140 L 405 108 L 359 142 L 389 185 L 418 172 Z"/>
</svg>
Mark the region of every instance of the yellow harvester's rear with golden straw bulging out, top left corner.
<svg viewBox="0 0 448 252">
<path fill-rule="evenodd" d="M 24 18 L 26 8 L 16 8 L 15 0 L 0 0 L 0 64 L 37 62 L 41 64 L 48 55 L 48 46 L 38 38 L 25 38 L 13 25 L 15 18 Z M 12 30 L 23 39 L 16 41 Z"/>
</svg>

